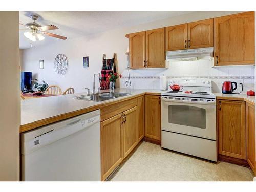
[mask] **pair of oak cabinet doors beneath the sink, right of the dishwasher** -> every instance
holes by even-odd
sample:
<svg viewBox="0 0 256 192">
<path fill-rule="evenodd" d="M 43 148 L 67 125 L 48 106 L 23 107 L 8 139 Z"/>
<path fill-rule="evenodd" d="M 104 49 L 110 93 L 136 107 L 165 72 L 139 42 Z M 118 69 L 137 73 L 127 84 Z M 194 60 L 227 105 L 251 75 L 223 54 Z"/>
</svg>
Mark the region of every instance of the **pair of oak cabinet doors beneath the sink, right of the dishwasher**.
<svg viewBox="0 0 256 192">
<path fill-rule="evenodd" d="M 137 106 L 101 122 L 101 180 L 104 181 L 138 144 Z"/>
</svg>

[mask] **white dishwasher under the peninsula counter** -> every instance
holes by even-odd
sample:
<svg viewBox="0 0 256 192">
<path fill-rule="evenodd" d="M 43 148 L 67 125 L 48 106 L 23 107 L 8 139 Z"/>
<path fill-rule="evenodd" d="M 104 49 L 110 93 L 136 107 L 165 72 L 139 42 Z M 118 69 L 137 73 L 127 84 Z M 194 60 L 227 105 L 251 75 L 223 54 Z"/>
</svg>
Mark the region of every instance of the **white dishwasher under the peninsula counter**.
<svg viewBox="0 0 256 192">
<path fill-rule="evenodd" d="M 100 110 L 21 134 L 23 181 L 100 181 Z"/>
</svg>

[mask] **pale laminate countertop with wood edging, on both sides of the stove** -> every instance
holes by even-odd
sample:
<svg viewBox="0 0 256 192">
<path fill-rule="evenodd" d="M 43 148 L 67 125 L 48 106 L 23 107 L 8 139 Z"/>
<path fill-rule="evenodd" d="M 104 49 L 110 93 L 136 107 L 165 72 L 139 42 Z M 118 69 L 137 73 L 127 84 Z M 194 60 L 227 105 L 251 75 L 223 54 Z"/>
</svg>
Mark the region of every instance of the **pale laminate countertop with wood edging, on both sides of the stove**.
<svg viewBox="0 0 256 192">
<path fill-rule="evenodd" d="M 105 91 L 108 92 L 108 91 Z M 25 99 L 21 101 L 21 125 L 20 132 L 29 131 L 37 127 L 57 122 L 63 119 L 98 110 L 104 106 L 114 104 L 119 101 L 132 99 L 142 95 L 161 95 L 160 90 L 146 89 L 116 89 L 115 92 L 131 93 L 131 95 L 118 97 L 102 102 L 77 100 L 74 97 L 86 95 L 77 93 L 70 95 L 60 95 L 55 97 L 42 97 L 38 99 Z M 103 93 L 103 92 L 102 92 Z M 255 103 L 254 96 L 246 94 L 229 95 L 214 93 L 219 99 L 244 100 L 251 104 Z"/>
</svg>

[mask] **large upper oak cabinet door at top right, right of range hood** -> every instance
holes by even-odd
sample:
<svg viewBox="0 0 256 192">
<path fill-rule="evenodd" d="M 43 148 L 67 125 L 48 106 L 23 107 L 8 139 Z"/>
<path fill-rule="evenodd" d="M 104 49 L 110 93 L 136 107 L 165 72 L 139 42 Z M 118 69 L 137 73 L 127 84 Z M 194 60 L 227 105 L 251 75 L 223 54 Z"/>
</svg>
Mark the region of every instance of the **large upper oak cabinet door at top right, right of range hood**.
<svg viewBox="0 0 256 192">
<path fill-rule="evenodd" d="M 215 65 L 254 64 L 254 11 L 215 18 Z"/>
</svg>

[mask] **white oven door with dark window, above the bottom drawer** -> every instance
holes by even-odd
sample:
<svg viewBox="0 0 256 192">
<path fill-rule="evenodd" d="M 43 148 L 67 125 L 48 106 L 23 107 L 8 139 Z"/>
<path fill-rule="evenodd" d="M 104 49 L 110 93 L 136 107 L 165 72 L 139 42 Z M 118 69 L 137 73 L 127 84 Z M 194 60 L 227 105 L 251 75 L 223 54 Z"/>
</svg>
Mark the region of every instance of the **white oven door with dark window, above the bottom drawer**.
<svg viewBox="0 0 256 192">
<path fill-rule="evenodd" d="M 216 140 L 216 101 L 180 101 L 161 98 L 161 129 Z"/>
</svg>

